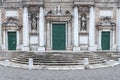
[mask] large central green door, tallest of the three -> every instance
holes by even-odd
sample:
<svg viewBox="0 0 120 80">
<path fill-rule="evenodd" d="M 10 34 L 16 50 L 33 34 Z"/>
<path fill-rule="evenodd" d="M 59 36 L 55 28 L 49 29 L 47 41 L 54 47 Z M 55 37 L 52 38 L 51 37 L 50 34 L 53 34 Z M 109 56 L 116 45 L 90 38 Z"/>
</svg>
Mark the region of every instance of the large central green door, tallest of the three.
<svg viewBox="0 0 120 80">
<path fill-rule="evenodd" d="M 53 50 L 65 50 L 66 49 L 66 29 L 65 24 L 53 24 L 52 25 L 52 48 Z"/>
</svg>

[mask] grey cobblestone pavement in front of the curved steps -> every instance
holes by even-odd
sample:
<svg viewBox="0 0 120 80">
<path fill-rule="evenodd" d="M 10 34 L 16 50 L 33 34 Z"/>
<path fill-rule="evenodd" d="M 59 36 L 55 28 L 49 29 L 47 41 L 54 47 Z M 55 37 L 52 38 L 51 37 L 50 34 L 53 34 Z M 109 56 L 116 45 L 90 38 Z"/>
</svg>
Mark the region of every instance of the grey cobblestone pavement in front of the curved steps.
<svg viewBox="0 0 120 80">
<path fill-rule="evenodd" d="M 27 70 L 0 66 L 0 80 L 120 80 L 120 65 L 89 70 Z"/>
</svg>

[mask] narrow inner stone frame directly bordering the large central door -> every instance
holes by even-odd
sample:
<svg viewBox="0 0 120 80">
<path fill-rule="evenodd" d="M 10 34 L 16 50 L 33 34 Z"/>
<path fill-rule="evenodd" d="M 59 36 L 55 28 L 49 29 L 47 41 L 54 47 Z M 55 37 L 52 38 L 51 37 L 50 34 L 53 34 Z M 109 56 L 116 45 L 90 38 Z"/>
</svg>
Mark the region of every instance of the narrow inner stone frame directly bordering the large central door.
<svg viewBox="0 0 120 80">
<path fill-rule="evenodd" d="M 66 42 L 66 43 L 65 43 L 65 48 L 66 48 L 66 49 L 65 49 L 65 50 L 67 50 L 67 44 L 68 44 L 68 42 L 67 42 L 67 41 L 68 41 L 68 26 L 67 26 L 68 24 L 67 24 L 67 22 L 52 22 L 52 23 L 51 23 L 51 28 L 50 28 L 50 29 L 51 29 L 51 31 L 50 31 L 50 33 L 51 33 L 51 34 L 50 34 L 50 37 L 51 37 L 51 39 L 50 39 L 50 40 L 51 40 L 51 49 L 52 49 L 52 47 L 53 47 L 53 45 L 52 45 L 52 44 L 53 44 L 53 41 L 52 41 L 52 37 L 53 37 L 53 36 L 52 36 L 52 25 L 53 25 L 53 24 L 65 24 L 65 30 L 66 30 L 66 33 L 65 33 L 65 34 L 66 34 L 66 38 L 65 38 L 65 39 L 66 39 L 66 40 L 65 40 L 65 42 Z M 52 50 L 53 50 L 53 49 L 52 49 Z"/>
</svg>

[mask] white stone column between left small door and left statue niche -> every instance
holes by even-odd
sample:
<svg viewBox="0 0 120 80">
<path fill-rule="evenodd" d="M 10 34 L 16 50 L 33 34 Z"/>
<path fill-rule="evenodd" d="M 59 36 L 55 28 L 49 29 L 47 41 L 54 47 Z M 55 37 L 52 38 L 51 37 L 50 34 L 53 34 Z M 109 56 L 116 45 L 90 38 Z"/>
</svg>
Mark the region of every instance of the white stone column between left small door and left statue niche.
<svg viewBox="0 0 120 80">
<path fill-rule="evenodd" d="M 28 8 L 25 6 L 23 11 L 23 47 L 22 51 L 29 51 L 29 24 Z"/>
</svg>

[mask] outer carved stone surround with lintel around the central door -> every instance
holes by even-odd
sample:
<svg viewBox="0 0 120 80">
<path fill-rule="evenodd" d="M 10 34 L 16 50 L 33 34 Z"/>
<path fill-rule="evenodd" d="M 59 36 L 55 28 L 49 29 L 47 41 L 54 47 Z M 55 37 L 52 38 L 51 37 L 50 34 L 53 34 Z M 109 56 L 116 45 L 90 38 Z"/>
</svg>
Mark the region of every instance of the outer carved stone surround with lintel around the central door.
<svg viewBox="0 0 120 80">
<path fill-rule="evenodd" d="M 66 50 L 72 50 L 72 15 L 46 15 L 46 49 L 52 50 L 52 23 L 66 24 Z"/>
</svg>

